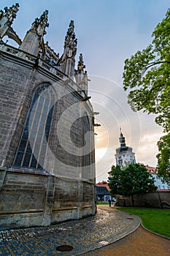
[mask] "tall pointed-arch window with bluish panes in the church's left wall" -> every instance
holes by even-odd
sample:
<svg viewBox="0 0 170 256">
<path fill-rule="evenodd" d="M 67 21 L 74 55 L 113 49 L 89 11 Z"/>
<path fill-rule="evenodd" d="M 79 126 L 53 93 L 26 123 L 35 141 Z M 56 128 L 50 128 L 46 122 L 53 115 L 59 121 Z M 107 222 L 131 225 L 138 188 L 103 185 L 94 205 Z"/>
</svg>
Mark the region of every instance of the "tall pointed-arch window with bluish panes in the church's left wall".
<svg viewBox="0 0 170 256">
<path fill-rule="evenodd" d="M 55 94 L 52 86 L 45 84 L 35 91 L 15 157 L 15 166 L 43 168 L 54 103 Z"/>
</svg>

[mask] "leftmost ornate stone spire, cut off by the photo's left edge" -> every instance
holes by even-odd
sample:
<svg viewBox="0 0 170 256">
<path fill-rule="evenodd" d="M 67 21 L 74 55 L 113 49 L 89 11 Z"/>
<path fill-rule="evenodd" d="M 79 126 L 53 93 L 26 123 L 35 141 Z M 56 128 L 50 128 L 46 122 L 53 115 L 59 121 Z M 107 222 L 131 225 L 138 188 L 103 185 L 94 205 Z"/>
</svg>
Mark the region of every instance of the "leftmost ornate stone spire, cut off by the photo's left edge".
<svg viewBox="0 0 170 256">
<path fill-rule="evenodd" d="M 18 12 L 19 4 L 13 4 L 12 7 L 4 7 L 4 11 L 0 10 L 0 41 L 7 35 L 9 29 L 11 29 L 11 24 L 16 18 L 16 13 Z"/>
</svg>

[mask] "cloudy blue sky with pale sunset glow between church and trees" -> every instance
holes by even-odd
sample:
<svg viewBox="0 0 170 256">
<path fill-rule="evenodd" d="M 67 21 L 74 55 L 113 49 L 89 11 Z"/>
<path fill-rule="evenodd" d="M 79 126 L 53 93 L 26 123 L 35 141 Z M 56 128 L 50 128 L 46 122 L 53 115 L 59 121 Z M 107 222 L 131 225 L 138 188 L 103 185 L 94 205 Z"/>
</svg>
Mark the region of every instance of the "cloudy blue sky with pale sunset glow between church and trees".
<svg viewBox="0 0 170 256">
<path fill-rule="evenodd" d="M 56 53 L 63 53 L 63 42 L 70 20 L 77 37 L 77 60 L 83 54 L 89 75 L 88 95 L 96 116 L 96 181 L 107 181 L 115 165 L 115 149 L 120 146 L 120 127 L 136 162 L 155 167 L 157 142 L 163 130 L 155 115 L 134 113 L 123 91 L 125 59 L 152 42 L 152 31 L 165 17 L 168 0 L 1 0 L 0 9 L 18 2 L 20 9 L 12 28 L 20 39 L 35 18 L 49 11 L 45 42 Z"/>
</svg>

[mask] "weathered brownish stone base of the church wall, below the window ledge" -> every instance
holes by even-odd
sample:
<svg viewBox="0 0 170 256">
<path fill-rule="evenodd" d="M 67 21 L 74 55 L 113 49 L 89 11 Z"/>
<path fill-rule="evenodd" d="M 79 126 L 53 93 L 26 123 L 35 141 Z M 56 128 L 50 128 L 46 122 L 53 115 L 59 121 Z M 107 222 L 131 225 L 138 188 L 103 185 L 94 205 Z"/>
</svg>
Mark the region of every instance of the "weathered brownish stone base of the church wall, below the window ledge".
<svg viewBox="0 0 170 256">
<path fill-rule="evenodd" d="M 0 230 L 47 226 L 96 212 L 90 182 L 26 170 L 0 170 L 0 177 Z"/>
</svg>

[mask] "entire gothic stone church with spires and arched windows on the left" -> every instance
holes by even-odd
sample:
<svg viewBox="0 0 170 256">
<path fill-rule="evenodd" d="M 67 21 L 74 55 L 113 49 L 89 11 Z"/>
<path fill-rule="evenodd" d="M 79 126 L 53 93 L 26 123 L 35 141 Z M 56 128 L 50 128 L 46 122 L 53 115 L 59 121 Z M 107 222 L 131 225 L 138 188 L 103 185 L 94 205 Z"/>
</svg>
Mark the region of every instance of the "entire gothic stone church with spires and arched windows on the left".
<svg viewBox="0 0 170 256">
<path fill-rule="evenodd" d="M 59 56 L 44 42 L 47 10 L 21 40 L 18 7 L 0 11 L 1 230 L 96 213 L 94 113 L 82 54 L 75 66 L 74 21 Z"/>
</svg>

